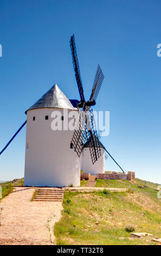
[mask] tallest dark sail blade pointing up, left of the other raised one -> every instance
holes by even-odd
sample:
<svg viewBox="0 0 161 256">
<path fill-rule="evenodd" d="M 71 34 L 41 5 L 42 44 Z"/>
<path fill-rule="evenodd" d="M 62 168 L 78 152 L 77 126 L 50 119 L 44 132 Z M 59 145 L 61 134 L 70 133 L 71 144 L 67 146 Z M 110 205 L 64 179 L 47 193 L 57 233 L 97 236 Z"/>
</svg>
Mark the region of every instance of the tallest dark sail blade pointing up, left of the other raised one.
<svg viewBox="0 0 161 256">
<path fill-rule="evenodd" d="M 76 82 L 78 84 L 80 99 L 81 99 L 81 102 L 85 102 L 85 96 L 83 94 L 83 85 L 82 85 L 82 79 L 81 79 L 81 75 L 80 75 L 78 56 L 77 56 L 76 47 L 75 47 L 74 34 L 70 38 L 70 48 L 71 48 L 71 52 L 72 52 L 72 59 L 73 59 L 73 66 L 74 66 L 74 71 L 75 71 L 75 78 L 76 78 Z"/>
</svg>

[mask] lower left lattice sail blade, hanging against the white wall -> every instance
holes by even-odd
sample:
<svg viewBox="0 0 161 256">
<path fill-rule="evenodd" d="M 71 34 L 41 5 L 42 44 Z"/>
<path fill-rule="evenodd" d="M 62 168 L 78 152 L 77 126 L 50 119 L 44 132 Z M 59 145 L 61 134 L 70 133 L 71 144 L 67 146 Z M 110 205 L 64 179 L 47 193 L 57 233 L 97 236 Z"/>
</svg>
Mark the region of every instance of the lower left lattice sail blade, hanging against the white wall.
<svg viewBox="0 0 161 256">
<path fill-rule="evenodd" d="M 76 154 L 78 154 L 79 157 L 82 153 L 83 146 L 87 141 L 87 133 L 86 114 L 85 112 L 80 111 L 78 123 L 71 141 L 74 151 L 76 151 Z"/>
</svg>

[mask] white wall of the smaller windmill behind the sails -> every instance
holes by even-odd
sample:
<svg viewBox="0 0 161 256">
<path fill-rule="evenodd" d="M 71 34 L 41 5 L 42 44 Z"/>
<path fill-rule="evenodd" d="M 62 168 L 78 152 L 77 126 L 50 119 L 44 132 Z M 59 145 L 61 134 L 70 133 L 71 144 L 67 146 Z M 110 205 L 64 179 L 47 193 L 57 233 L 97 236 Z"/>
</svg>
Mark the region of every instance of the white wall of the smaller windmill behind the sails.
<svg viewBox="0 0 161 256">
<path fill-rule="evenodd" d="M 98 161 L 94 164 L 91 160 L 91 154 L 89 148 L 83 149 L 83 156 L 82 156 L 82 164 L 81 169 L 83 173 L 91 173 L 91 174 L 98 174 L 98 173 L 105 173 L 105 150 L 101 148 L 101 156 L 99 157 Z"/>
</svg>

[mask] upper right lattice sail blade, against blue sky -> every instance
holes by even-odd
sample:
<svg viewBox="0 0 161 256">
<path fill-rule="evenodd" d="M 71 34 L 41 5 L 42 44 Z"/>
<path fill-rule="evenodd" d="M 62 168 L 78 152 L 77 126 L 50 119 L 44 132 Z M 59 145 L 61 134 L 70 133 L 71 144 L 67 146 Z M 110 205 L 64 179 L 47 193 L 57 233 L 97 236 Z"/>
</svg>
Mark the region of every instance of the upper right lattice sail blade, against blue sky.
<svg viewBox="0 0 161 256">
<path fill-rule="evenodd" d="M 100 65 L 98 65 L 98 68 L 96 70 L 96 75 L 95 75 L 95 78 L 94 78 L 94 82 L 93 82 L 93 87 L 92 87 L 92 93 L 91 93 L 90 100 L 96 100 L 96 98 L 99 94 L 99 91 L 100 91 L 103 80 L 104 80 L 104 74 L 103 74 L 103 72 L 100 68 Z"/>
</svg>

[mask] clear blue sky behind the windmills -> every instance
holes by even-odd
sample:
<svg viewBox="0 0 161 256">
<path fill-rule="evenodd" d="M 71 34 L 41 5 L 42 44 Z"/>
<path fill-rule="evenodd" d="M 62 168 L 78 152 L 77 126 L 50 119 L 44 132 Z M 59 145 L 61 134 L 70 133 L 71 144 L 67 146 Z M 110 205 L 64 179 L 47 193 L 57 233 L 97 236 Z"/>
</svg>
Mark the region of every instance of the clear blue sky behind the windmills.
<svg viewBox="0 0 161 256">
<path fill-rule="evenodd" d="M 86 97 L 96 65 L 105 79 L 94 110 L 110 111 L 102 143 L 126 171 L 161 184 L 160 0 L 0 0 L 0 149 L 24 111 L 57 83 L 79 99 L 69 47 L 75 34 Z M 24 176 L 25 128 L 0 156 L 0 180 Z M 108 158 L 106 170 L 119 170 Z"/>
</svg>

